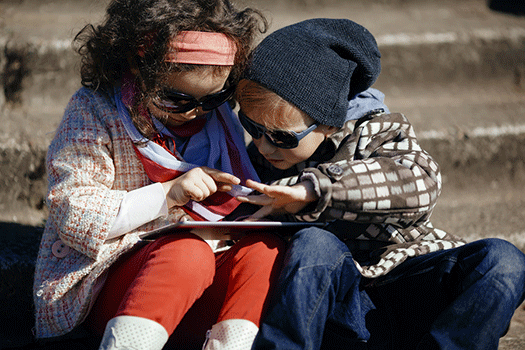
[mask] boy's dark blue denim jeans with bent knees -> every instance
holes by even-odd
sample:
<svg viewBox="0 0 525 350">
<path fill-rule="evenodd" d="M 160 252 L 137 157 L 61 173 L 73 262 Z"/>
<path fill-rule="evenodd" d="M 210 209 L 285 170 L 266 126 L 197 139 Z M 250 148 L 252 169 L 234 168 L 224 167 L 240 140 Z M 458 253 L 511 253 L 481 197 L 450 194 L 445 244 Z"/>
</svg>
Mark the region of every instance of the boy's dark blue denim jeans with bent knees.
<svg viewBox="0 0 525 350">
<path fill-rule="evenodd" d="M 525 254 L 500 239 L 363 278 L 336 236 L 299 231 L 252 349 L 497 349 L 525 297 Z"/>
</svg>

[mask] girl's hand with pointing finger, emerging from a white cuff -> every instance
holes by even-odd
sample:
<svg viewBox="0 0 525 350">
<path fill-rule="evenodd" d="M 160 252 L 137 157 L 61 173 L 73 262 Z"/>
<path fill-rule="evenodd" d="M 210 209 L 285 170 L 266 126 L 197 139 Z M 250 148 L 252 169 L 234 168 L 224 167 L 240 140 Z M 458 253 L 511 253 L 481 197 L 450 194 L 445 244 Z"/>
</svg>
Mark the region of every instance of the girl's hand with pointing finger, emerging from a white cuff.
<svg viewBox="0 0 525 350">
<path fill-rule="evenodd" d="M 238 185 L 239 178 L 208 167 L 198 167 L 162 184 L 168 208 L 183 206 L 190 200 L 202 201 L 217 191 L 228 192 Z"/>
</svg>

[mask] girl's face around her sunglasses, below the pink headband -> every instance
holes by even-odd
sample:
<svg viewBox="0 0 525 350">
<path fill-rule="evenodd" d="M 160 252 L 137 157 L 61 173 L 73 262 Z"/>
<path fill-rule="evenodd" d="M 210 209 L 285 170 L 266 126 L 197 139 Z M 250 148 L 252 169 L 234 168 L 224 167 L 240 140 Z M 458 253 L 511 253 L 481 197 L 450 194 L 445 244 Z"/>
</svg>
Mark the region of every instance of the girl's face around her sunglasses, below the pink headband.
<svg viewBox="0 0 525 350">
<path fill-rule="evenodd" d="M 168 75 L 165 85 L 160 86 L 159 91 L 169 89 L 200 101 L 208 95 L 223 90 L 230 72 L 231 67 L 224 67 L 221 70 L 206 67 L 189 72 L 174 72 Z M 157 107 L 154 101 L 150 101 L 148 109 L 157 119 L 167 120 L 168 126 L 180 126 L 209 112 L 203 111 L 202 107 L 197 107 L 187 112 L 174 113 Z"/>
</svg>

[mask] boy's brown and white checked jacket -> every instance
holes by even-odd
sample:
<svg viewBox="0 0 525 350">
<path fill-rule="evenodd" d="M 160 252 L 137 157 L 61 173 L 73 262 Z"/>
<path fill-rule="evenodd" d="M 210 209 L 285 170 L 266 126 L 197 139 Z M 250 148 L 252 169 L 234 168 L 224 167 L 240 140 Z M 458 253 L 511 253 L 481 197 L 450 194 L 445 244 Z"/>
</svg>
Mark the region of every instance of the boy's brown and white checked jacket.
<svg viewBox="0 0 525 350">
<path fill-rule="evenodd" d="M 295 219 L 329 222 L 326 228 L 349 246 L 365 277 L 383 276 L 408 257 L 464 244 L 429 221 L 441 192 L 439 166 L 402 114 L 381 110 L 348 121 L 292 169 L 274 168 L 253 144 L 249 154 L 262 181 L 313 182 L 320 199 Z"/>
</svg>

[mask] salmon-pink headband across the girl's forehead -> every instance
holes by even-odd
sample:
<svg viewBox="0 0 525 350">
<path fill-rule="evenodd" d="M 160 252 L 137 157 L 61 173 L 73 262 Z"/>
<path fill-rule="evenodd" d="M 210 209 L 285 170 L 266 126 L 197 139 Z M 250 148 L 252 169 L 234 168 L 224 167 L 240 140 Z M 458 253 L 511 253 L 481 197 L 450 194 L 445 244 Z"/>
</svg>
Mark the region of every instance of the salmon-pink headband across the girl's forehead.
<svg viewBox="0 0 525 350">
<path fill-rule="evenodd" d="M 228 36 L 212 32 L 180 32 L 170 45 L 166 61 L 173 63 L 233 66 L 237 51 Z"/>
</svg>

